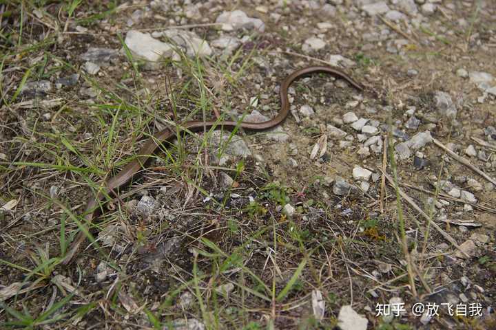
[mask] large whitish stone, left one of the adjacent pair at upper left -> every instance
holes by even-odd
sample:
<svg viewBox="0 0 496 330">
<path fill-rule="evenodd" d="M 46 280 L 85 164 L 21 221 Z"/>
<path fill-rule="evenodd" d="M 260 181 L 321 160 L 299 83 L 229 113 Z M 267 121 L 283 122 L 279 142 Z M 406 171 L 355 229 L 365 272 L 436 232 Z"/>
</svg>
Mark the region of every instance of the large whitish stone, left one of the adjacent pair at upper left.
<svg viewBox="0 0 496 330">
<path fill-rule="evenodd" d="M 157 62 L 163 57 L 174 54 L 171 45 L 152 38 L 147 33 L 131 30 L 127 32 L 125 44 L 137 58 L 145 61 Z"/>
</svg>

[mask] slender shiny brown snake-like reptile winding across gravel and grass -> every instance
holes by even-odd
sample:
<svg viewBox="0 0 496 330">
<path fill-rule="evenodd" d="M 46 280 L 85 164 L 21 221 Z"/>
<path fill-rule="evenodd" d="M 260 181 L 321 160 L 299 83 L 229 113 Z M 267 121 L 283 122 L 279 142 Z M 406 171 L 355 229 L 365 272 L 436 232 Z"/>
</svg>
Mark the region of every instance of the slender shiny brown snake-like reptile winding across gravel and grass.
<svg viewBox="0 0 496 330">
<path fill-rule="evenodd" d="M 208 121 L 208 122 L 203 122 L 203 121 L 191 121 L 191 122 L 186 122 L 182 126 L 180 126 L 180 131 L 185 132 L 185 131 L 191 131 L 191 132 L 197 132 L 203 129 L 211 129 L 212 127 L 216 129 L 228 129 L 232 130 L 235 127 L 242 127 L 243 129 L 247 129 L 249 131 L 264 131 L 266 129 L 271 129 L 274 126 L 277 126 L 281 122 L 283 122 L 286 118 L 287 115 L 289 114 L 289 100 L 288 100 L 288 89 L 289 85 L 293 83 L 294 80 L 301 78 L 303 76 L 308 76 L 309 74 L 316 74 L 316 73 L 325 73 L 325 74 L 331 74 L 333 76 L 336 76 L 338 78 L 342 78 L 344 80 L 347 80 L 348 83 L 350 83 L 355 89 L 358 89 L 359 91 L 363 90 L 363 87 L 355 82 L 350 76 L 345 74 L 339 69 L 335 69 L 332 67 L 322 67 L 322 66 L 313 66 L 313 67 L 305 67 L 303 69 L 299 69 L 296 72 L 293 72 L 285 80 L 282 80 L 281 86 L 280 86 L 280 102 L 281 102 L 281 109 L 279 113 L 276 115 L 276 117 L 272 118 L 271 120 L 267 120 L 266 122 L 234 122 L 234 121 L 225 121 L 225 122 L 218 122 L 218 121 Z M 112 195 L 112 192 L 115 192 L 118 188 L 122 188 L 126 184 L 128 184 L 132 177 L 138 173 L 138 171 L 143 168 L 143 166 L 147 163 L 147 161 L 150 159 L 150 156 L 156 153 L 158 147 L 162 144 L 162 142 L 165 142 L 167 140 L 172 140 L 172 138 L 176 137 L 176 130 L 172 129 L 163 129 L 162 131 L 159 131 L 153 137 L 151 137 L 147 142 L 141 147 L 140 151 L 138 151 L 138 155 L 136 159 L 134 159 L 132 162 L 124 166 L 124 168 L 118 172 L 114 177 L 111 177 L 108 181 L 105 187 L 103 187 L 103 191 L 99 191 L 95 197 L 90 197 L 90 199 L 87 202 L 86 209 L 85 209 L 85 222 L 87 225 L 90 225 L 92 221 L 99 216 L 101 212 L 101 208 L 103 204 L 106 202 L 105 196 L 107 195 Z M 64 265 L 67 265 L 70 263 L 72 258 L 74 257 L 74 254 L 79 250 L 79 246 L 81 243 L 83 243 L 86 239 L 86 235 L 83 231 L 79 232 L 79 235 L 76 237 L 76 240 L 72 243 L 71 248 L 66 254 L 65 258 L 63 259 L 62 263 Z"/>
</svg>

